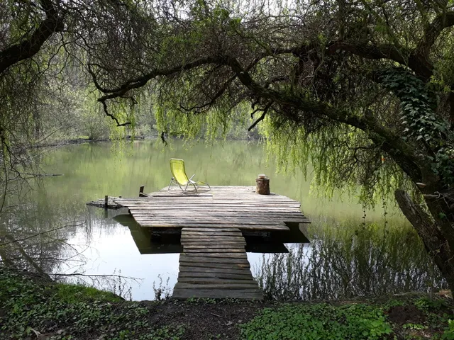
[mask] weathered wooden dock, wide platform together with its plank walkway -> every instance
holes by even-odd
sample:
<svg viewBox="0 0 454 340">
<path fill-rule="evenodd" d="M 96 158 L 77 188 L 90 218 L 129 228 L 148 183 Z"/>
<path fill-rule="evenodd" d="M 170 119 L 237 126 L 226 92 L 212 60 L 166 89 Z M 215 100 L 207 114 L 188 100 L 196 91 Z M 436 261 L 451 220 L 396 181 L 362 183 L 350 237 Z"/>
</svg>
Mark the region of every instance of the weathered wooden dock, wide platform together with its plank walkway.
<svg viewBox="0 0 454 340">
<path fill-rule="evenodd" d="M 173 297 L 260 299 L 242 232 L 288 232 L 286 222 L 309 223 L 301 203 L 254 187 L 216 186 L 177 195 L 167 188 L 143 198 L 119 198 L 141 227 L 181 229 L 183 252 Z"/>
</svg>

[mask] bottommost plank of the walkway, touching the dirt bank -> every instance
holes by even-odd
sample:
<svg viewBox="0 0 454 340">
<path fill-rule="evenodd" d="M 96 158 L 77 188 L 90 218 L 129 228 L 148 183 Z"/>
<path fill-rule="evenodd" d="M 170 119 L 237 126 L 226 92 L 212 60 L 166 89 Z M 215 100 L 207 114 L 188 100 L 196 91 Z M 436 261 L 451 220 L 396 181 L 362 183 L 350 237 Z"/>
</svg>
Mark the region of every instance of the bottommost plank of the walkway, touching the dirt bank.
<svg viewBox="0 0 454 340">
<path fill-rule="evenodd" d="M 177 288 L 173 290 L 172 297 L 177 299 L 189 299 L 189 297 L 199 298 L 229 298 L 239 300 L 262 300 L 263 294 L 258 289 L 242 290 L 222 290 L 222 289 L 184 289 Z"/>
</svg>

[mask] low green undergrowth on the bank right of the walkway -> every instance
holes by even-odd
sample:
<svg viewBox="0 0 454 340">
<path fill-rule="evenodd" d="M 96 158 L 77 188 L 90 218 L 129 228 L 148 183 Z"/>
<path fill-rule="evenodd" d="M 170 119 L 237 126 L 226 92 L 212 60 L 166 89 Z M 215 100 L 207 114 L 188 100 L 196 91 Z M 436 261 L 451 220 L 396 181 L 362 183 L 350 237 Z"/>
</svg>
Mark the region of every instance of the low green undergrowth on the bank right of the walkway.
<svg viewBox="0 0 454 340">
<path fill-rule="evenodd" d="M 409 295 L 399 300 L 279 304 L 240 325 L 243 339 L 454 339 L 450 301 Z"/>
</svg>

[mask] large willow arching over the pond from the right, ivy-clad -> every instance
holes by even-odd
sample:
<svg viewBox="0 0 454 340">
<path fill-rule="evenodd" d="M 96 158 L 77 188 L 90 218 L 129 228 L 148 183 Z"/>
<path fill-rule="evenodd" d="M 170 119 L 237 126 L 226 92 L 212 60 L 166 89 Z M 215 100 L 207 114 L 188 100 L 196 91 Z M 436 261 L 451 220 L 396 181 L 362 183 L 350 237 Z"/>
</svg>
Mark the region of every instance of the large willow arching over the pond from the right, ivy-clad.
<svg viewBox="0 0 454 340">
<path fill-rule="evenodd" d="M 137 27 L 87 38 L 103 41 L 87 67 L 118 125 L 118 103 L 144 91 L 162 132 L 222 125 L 249 103 L 251 128 L 262 125 L 282 162 L 310 161 L 319 183 L 360 186 L 365 201 L 395 191 L 454 289 L 453 6 L 143 1 Z"/>
</svg>

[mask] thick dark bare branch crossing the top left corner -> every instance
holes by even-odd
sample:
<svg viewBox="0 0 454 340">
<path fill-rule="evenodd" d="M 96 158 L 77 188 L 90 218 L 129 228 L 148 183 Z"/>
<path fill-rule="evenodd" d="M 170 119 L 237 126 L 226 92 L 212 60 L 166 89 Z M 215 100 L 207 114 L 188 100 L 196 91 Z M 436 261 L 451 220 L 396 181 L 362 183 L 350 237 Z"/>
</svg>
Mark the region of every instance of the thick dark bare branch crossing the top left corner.
<svg viewBox="0 0 454 340">
<path fill-rule="evenodd" d="M 31 35 L 24 35 L 22 41 L 0 52 L 0 74 L 13 64 L 33 57 L 54 33 L 61 32 L 65 25 L 50 0 L 41 0 L 46 18 Z"/>
</svg>

